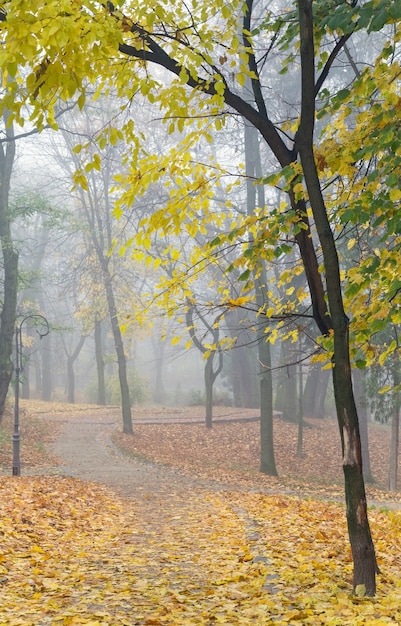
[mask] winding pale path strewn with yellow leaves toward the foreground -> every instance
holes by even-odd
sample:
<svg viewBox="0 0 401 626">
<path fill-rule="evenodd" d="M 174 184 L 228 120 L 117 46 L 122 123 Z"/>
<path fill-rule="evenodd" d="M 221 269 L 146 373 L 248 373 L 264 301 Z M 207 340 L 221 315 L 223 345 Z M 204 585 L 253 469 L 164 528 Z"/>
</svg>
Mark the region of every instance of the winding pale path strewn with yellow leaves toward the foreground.
<svg viewBox="0 0 401 626">
<path fill-rule="evenodd" d="M 136 575 L 141 581 L 138 594 L 133 592 L 137 617 L 132 624 L 212 624 L 209 611 L 205 610 L 203 617 L 199 617 L 199 611 L 203 604 L 207 606 L 209 598 L 216 605 L 226 602 L 225 587 L 220 583 L 213 586 L 213 580 L 248 567 L 239 564 L 237 551 L 249 534 L 255 534 L 252 521 L 244 511 L 236 511 L 226 502 L 224 490 L 228 485 L 125 458 L 111 441 L 116 427 L 110 415 L 69 417 L 52 452 L 60 460 L 62 475 L 100 483 L 124 499 L 132 529 Z M 263 549 L 253 538 L 255 556 Z M 243 580 L 245 585 L 246 577 Z M 159 589 L 157 606 L 153 606 Z M 138 617 L 142 605 L 143 615 L 147 615 L 144 621 Z M 175 605 L 178 617 L 173 614 Z M 153 617 L 147 621 L 150 615 L 159 613 L 162 622 L 152 621 Z M 250 622 L 236 617 L 230 623 Z"/>
</svg>

